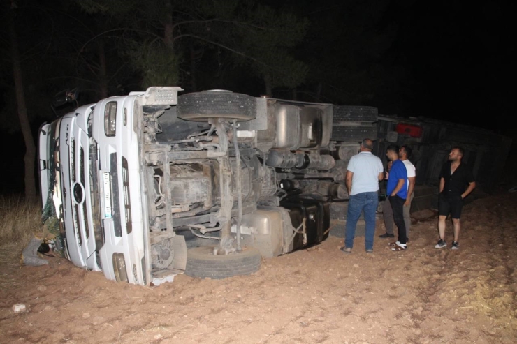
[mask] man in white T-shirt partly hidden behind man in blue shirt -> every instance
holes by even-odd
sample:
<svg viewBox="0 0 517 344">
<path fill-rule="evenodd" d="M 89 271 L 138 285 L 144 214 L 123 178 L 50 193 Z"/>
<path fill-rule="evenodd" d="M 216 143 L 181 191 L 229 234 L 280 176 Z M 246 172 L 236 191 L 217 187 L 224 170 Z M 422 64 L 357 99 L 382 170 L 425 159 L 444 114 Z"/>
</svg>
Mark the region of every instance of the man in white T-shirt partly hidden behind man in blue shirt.
<svg viewBox="0 0 517 344">
<path fill-rule="evenodd" d="M 412 154 L 411 147 L 402 146 L 398 151 L 398 158 L 404 163 L 407 170 L 407 198 L 404 203 L 404 223 L 406 225 L 406 234 L 409 239 L 409 227 L 411 226 L 411 215 L 409 210 L 411 209 L 411 202 L 414 197 L 414 187 L 416 179 L 416 168 L 409 161 L 409 157 Z M 379 238 L 393 238 L 393 210 L 391 209 L 390 202 L 384 202 L 382 207 L 382 214 L 384 215 L 384 225 L 386 227 L 386 233 L 379 235 Z"/>
</svg>

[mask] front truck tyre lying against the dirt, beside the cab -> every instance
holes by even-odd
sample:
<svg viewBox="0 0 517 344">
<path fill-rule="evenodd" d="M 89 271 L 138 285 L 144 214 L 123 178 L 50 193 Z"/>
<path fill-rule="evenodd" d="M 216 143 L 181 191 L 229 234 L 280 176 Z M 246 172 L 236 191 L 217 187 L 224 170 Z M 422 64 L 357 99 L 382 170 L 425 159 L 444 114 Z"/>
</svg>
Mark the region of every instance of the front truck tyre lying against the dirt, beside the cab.
<svg viewBox="0 0 517 344">
<path fill-rule="evenodd" d="M 221 279 L 249 275 L 261 267 L 261 253 L 248 247 L 240 253 L 214 255 L 214 246 L 190 248 L 187 253 L 185 274 L 197 278 Z"/>
</svg>

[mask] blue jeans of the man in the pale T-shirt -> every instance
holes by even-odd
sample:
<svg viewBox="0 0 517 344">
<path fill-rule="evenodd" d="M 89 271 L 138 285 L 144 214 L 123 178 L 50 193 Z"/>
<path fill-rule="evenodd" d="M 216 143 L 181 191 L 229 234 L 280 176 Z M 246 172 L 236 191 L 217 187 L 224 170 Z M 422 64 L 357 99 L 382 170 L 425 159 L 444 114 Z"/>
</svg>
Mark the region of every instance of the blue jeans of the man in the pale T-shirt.
<svg viewBox="0 0 517 344">
<path fill-rule="evenodd" d="M 344 232 L 344 247 L 354 247 L 354 237 L 356 236 L 356 225 L 361 211 L 365 213 L 365 249 L 373 249 L 373 237 L 375 234 L 375 212 L 379 204 L 379 194 L 358 193 L 349 198 L 347 211 L 347 227 Z"/>
</svg>

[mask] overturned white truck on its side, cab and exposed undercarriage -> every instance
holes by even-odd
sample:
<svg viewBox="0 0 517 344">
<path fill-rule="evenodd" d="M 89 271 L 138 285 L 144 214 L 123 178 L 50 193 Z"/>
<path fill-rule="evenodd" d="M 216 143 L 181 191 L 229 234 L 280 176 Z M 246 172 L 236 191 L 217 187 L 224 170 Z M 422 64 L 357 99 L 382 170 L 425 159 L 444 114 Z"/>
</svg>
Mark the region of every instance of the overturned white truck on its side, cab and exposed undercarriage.
<svg viewBox="0 0 517 344">
<path fill-rule="evenodd" d="M 328 237 L 377 109 L 179 87 L 78 107 L 39 132 L 45 219 L 78 267 L 139 285 L 225 278 Z"/>
</svg>

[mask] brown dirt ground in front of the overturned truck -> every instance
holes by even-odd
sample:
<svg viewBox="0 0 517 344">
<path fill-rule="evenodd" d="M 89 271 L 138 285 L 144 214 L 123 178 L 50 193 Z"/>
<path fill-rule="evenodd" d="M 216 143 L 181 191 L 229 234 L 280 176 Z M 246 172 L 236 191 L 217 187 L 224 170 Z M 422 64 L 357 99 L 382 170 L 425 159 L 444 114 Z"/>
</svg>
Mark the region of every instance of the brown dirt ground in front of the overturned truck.
<svg viewBox="0 0 517 344">
<path fill-rule="evenodd" d="M 515 343 L 517 193 L 465 207 L 460 250 L 435 249 L 437 216 L 407 251 L 357 237 L 263 260 L 252 276 L 139 287 L 61 258 L 0 267 L 1 343 Z M 422 214 L 414 214 L 419 216 Z M 425 214 L 423 215 L 425 217 Z M 27 311 L 14 313 L 14 304 Z"/>
</svg>

